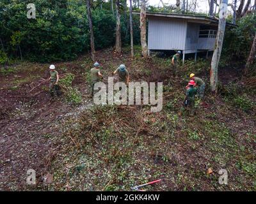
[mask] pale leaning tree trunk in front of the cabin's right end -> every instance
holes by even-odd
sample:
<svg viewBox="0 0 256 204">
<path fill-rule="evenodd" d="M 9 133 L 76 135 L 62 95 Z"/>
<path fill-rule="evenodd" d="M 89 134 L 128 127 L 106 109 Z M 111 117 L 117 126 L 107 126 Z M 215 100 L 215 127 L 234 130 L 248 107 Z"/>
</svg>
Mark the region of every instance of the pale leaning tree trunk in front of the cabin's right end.
<svg viewBox="0 0 256 204">
<path fill-rule="evenodd" d="M 227 4 L 228 0 L 222 0 L 222 4 Z M 225 26 L 226 26 L 226 15 L 223 8 L 220 8 L 219 12 L 219 25 L 218 25 L 218 33 L 215 41 L 215 48 L 212 55 L 211 62 L 211 72 L 210 72 L 210 81 L 211 81 L 211 90 L 212 92 L 217 92 L 217 84 L 218 84 L 218 65 L 220 62 L 221 49 L 223 44 L 223 38 L 225 34 Z"/>
</svg>

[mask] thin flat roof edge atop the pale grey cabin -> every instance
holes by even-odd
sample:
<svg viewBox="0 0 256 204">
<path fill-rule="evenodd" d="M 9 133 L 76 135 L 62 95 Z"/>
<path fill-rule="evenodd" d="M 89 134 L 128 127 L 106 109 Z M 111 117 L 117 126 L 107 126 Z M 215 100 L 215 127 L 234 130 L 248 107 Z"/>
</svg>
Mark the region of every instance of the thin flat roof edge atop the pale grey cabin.
<svg viewBox="0 0 256 204">
<path fill-rule="evenodd" d="M 140 15 L 140 11 L 132 11 L 133 14 Z M 166 17 L 166 18 L 182 18 L 182 19 L 189 19 L 189 20 L 200 20 L 202 22 L 212 22 L 214 24 L 218 24 L 219 19 L 216 17 L 207 17 L 204 15 L 189 15 L 189 14 L 179 14 L 179 13 L 155 13 L 155 12 L 147 12 L 147 16 L 152 17 Z M 227 22 L 229 26 L 237 26 L 235 24 L 231 24 Z"/>
</svg>

